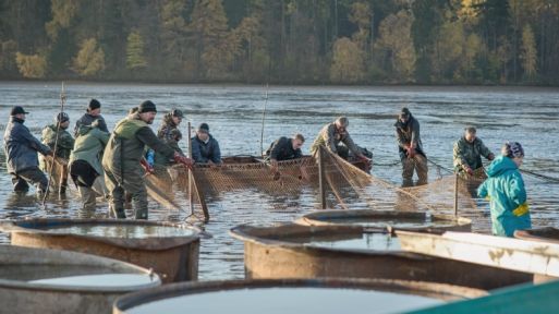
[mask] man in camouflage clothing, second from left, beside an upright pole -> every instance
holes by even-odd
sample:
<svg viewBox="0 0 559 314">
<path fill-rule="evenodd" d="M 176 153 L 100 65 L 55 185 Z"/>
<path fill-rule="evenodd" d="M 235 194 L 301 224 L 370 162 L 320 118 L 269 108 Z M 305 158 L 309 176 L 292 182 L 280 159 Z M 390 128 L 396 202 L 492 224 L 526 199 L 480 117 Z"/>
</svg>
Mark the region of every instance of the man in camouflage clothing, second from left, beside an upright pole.
<svg viewBox="0 0 559 314">
<path fill-rule="evenodd" d="M 54 123 L 45 126 L 41 133 L 42 144 L 56 152 L 54 160 L 40 158 L 40 167 L 51 176 L 53 186 L 60 194 L 64 194 L 68 188 L 68 159 L 74 148 L 74 138 L 68 132 L 70 117 L 66 112 L 60 112 L 54 117 Z M 58 134 L 58 135 L 57 135 Z M 58 137 L 58 138 L 57 138 Z M 52 165 L 52 161 L 54 165 Z"/>
</svg>

